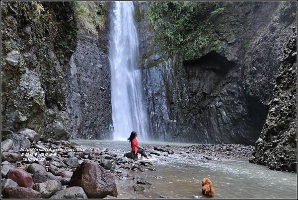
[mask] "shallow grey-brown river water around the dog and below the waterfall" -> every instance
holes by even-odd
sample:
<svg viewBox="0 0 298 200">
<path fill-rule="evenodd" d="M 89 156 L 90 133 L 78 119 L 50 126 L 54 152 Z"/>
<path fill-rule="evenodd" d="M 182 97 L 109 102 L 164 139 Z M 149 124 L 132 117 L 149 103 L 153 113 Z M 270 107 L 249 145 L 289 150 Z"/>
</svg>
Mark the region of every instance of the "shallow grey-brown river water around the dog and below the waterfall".
<svg viewBox="0 0 298 200">
<path fill-rule="evenodd" d="M 74 142 L 99 149 L 109 148 L 119 157 L 130 151 L 127 141 L 80 139 Z M 162 153 L 160 156 L 152 155 L 150 162 L 156 171 L 128 171 L 128 174 L 137 175 L 150 182 L 150 190 L 156 194 L 168 198 L 205 198 L 201 195 L 201 181 L 208 177 L 215 188 L 215 198 L 219 199 L 297 198 L 295 173 L 269 170 L 265 166 L 249 163 L 247 159 L 207 161 L 199 159 L 196 154 L 179 154 L 182 147 L 192 145 L 189 143 L 143 142 L 141 145 L 170 145 L 175 152 L 168 157 Z M 119 187 L 121 186 L 117 186 Z"/>
</svg>

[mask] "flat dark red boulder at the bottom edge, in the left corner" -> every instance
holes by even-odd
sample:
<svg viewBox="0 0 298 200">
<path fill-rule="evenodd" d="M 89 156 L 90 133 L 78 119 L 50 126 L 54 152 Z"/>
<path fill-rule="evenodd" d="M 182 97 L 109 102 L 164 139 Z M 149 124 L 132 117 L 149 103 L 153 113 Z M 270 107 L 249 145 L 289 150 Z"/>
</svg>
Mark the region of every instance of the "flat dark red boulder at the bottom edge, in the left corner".
<svg viewBox="0 0 298 200">
<path fill-rule="evenodd" d="M 4 189 L 4 198 L 9 199 L 40 199 L 41 194 L 31 188 L 7 186 Z"/>
</svg>

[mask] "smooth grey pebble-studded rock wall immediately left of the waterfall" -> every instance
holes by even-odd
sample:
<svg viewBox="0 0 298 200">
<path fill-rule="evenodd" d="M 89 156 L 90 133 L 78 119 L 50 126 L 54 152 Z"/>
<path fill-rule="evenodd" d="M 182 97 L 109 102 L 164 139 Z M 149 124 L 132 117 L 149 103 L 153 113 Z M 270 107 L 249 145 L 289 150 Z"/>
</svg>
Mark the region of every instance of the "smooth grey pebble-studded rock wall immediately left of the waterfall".
<svg viewBox="0 0 298 200">
<path fill-rule="evenodd" d="M 73 138 L 111 138 L 110 68 L 104 37 L 78 33 L 69 62 L 69 108 Z"/>
</svg>

